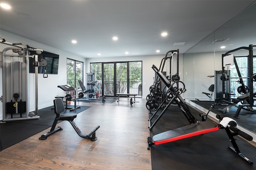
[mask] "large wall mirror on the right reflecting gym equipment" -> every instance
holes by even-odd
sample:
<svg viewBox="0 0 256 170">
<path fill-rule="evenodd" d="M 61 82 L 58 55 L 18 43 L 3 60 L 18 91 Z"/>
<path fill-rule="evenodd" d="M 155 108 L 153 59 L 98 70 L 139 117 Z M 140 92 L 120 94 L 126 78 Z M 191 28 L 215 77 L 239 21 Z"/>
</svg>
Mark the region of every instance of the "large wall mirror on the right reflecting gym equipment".
<svg viewBox="0 0 256 170">
<path fill-rule="evenodd" d="M 256 3 L 222 25 L 219 29 L 208 35 L 200 43 L 184 53 L 184 83 L 186 93 L 184 98 L 197 105 L 210 107 L 215 104 L 214 113 L 223 113 L 225 116 L 234 118 L 237 107 L 228 108 L 227 105 L 216 105 L 214 100 L 219 97 L 218 92 L 222 88 L 222 54 L 239 47 L 249 47 L 256 45 Z M 225 48 L 223 48 L 225 47 Z M 227 80 L 225 87 L 229 90 L 230 100 L 236 99 L 239 94 L 237 88 L 241 85 L 238 80 L 242 78 L 244 84 L 248 86 L 248 50 L 238 50 L 232 52 L 237 57 L 241 75 L 237 74 L 235 66 L 226 66 Z M 253 72 L 256 73 L 256 47 L 253 47 Z M 220 78 L 221 77 L 221 78 Z M 214 92 L 211 85 L 214 84 Z M 256 92 L 256 82 L 253 82 L 253 92 Z M 225 89 L 225 90 L 227 90 Z M 221 89 L 222 90 L 222 89 Z M 210 94 L 210 95 L 209 95 Z M 211 96 L 212 94 L 212 96 Z M 222 95 L 223 96 L 223 95 Z M 240 103 L 238 103 L 239 105 Z M 255 104 L 255 102 L 254 102 Z M 237 106 L 238 106 L 237 105 Z M 218 110 L 218 108 L 224 109 Z M 256 109 L 254 107 L 254 109 Z M 256 112 L 242 109 L 239 118 L 234 118 L 239 125 L 256 133 Z"/>
</svg>

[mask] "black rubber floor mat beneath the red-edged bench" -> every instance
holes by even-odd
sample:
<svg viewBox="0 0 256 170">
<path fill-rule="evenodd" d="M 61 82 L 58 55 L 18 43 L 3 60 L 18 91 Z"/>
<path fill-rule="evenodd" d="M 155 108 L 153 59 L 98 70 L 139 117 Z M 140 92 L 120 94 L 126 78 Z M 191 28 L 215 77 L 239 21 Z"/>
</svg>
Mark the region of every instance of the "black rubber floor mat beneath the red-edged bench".
<svg viewBox="0 0 256 170">
<path fill-rule="evenodd" d="M 190 108 L 198 118 L 199 112 Z M 152 114 L 149 114 L 151 117 Z M 150 136 L 163 131 L 188 125 L 188 121 L 178 106 L 170 106 L 155 127 Z M 242 154 L 256 163 L 256 149 L 240 137 L 236 142 Z M 146 145 L 146 143 L 145 143 Z M 232 145 L 224 129 L 198 135 L 162 145 L 151 146 L 152 170 L 252 170 L 254 166 L 239 158 L 230 149 Z"/>
</svg>

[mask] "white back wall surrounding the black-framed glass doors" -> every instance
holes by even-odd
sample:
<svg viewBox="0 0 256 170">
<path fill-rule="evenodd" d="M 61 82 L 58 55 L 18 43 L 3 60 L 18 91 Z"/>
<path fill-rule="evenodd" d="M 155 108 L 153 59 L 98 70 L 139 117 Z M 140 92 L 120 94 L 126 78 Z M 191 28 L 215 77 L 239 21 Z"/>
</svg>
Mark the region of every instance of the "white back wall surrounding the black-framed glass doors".
<svg viewBox="0 0 256 170">
<path fill-rule="evenodd" d="M 173 50 L 173 49 L 170 49 Z M 167 51 L 166 51 L 167 52 Z M 86 59 L 86 73 L 90 72 L 90 63 L 98 62 L 119 62 L 119 61 L 142 61 L 142 98 L 146 98 L 150 94 L 149 88 L 153 85 L 155 76 L 154 70 L 151 68 L 152 65 L 160 67 L 161 60 L 165 55 L 151 55 L 151 56 L 134 56 L 134 57 L 108 57 L 108 58 L 92 58 Z M 176 55 L 174 55 L 174 59 Z M 175 61 L 175 60 L 174 60 Z M 174 63 L 175 65 L 176 63 Z M 169 62 L 165 64 L 164 71 L 169 74 Z M 183 78 L 183 55 L 179 55 L 179 72 L 181 79 Z M 175 68 L 176 69 L 176 68 Z M 175 72 L 176 73 L 176 72 Z"/>
</svg>

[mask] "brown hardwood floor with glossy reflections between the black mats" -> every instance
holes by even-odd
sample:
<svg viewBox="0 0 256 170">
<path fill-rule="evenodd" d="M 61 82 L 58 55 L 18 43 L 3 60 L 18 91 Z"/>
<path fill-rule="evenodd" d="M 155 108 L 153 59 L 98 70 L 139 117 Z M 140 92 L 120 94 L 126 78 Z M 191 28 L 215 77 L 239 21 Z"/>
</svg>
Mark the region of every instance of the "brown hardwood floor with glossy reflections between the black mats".
<svg viewBox="0 0 256 170">
<path fill-rule="evenodd" d="M 151 170 L 146 99 L 136 100 L 140 102 L 133 106 L 130 102 L 77 102 L 78 106 L 92 106 L 78 113 L 74 121 L 84 134 L 100 125 L 97 141 L 79 137 L 68 121 L 62 121 L 57 126 L 63 130 L 44 141 L 38 138 L 50 128 L 2 150 L 0 169 Z"/>
</svg>

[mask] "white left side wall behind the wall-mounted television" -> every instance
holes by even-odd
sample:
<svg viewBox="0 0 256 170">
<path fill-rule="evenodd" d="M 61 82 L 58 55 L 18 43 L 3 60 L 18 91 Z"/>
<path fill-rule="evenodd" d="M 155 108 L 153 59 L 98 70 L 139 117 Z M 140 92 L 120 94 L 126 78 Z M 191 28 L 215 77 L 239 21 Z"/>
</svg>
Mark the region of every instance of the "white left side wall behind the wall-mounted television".
<svg viewBox="0 0 256 170">
<path fill-rule="evenodd" d="M 58 85 L 66 84 L 66 59 L 75 59 L 78 61 L 86 62 L 85 58 L 75 56 L 74 54 L 67 53 L 65 51 L 61 51 L 59 49 L 55 49 L 48 45 L 44 45 L 38 43 L 36 41 L 32 41 L 30 39 L 26 39 L 24 37 L 20 37 L 18 35 L 14 35 L 12 33 L 8 33 L 6 31 L 0 30 L 1 36 L 6 39 L 7 42 L 10 43 L 27 43 L 31 47 L 42 49 L 44 51 L 48 51 L 50 53 L 55 53 L 60 55 L 59 58 L 59 68 L 58 74 L 48 74 L 48 78 L 43 78 L 43 74 L 38 74 L 38 109 L 42 109 L 44 107 L 52 106 L 53 100 L 56 95 L 65 96 L 65 92 L 58 88 Z M 40 40 L 38 40 L 40 41 Z M 58 41 L 58 40 L 56 40 Z M 0 51 L 3 51 L 4 48 L 11 47 L 8 45 L 4 45 L 0 43 Z M 67 45 L 68 48 L 68 45 Z M 2 96 L 2 69 L 0 71 L 0 96 Z M 30 73 L 30 111 L 34 111 L 34 74 Z M 0 103 L 0 120 L 2 119 L 2 102 Z"/>
</svg>

